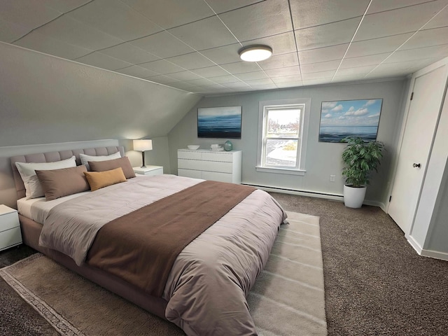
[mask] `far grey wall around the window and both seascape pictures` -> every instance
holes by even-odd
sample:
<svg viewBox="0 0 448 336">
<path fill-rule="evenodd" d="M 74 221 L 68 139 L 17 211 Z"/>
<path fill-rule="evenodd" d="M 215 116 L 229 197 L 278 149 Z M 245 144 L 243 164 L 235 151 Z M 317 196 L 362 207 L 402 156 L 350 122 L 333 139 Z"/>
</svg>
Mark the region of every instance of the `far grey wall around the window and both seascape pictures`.
<svg viewBox="0 0 448 336">
<path fill-rule="evenodd" d="M 396 132 L 400 130 L 402 118 L 402 94 L 404 80 L 376 83 L 357 83 L 351 85 L 335 84 L 316 87 L 299 87 L 287 90 L 251 92 L 223 97 L 205 97 L 169 132 L 169 156 L 172 173 L 177 171 L 176 150 L 186 148 L 188 144 L 199 144 L 209 148 L 210 144 L 223 143 L 225 139 L 197 138 L 197 108 L 214 106 L 242 106 L 241 139 L 232 139 L 234 149 L 243 151 L 243 183 L 277 188 L 288 188 L 314 193 L 342 195 L 344 181 L 340 159 L 344 144 L 318 142 L 318 130 L 321 115 L 321 102 L 346 99 L 382 98 L 383 106 L 379 123 L 378 140 L 383 141 L 387 151 L 381 162 L 379 173 L 374 175 L 372 184 L 367 188 L 366 200 L 384 207 L 390 184 L 389 170 L 391 158 L 396 154 Z M 258 141 L 258 102 L 274 99 L 311 98 L 311 116 L 309 120 L 307 158 L 304 176 L 272 174 L 255 171 Z M 336 182 L 330 182 L 330 174 L 336 175 Z"/>
</svg>

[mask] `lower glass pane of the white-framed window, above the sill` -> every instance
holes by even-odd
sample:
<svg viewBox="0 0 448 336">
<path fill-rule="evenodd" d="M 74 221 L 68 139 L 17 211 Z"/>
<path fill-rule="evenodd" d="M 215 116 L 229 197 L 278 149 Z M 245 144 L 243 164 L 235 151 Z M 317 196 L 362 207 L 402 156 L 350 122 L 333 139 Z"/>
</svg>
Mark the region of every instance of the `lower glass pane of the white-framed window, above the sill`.
<svg viewBox="0 0 448 336">
<path fill-rule="evenodd" d="M 266 142 L 265 165 L 272 167 L 295 167 L 297 140 L 270 140 Z"/>
</svg>

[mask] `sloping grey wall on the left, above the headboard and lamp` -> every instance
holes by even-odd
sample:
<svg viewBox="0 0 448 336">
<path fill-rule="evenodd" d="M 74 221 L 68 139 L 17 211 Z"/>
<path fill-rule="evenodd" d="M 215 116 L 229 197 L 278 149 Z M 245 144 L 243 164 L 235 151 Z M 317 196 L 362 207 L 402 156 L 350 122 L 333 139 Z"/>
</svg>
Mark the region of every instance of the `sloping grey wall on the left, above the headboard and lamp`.
<svg viewBox="0 0 448 336">
<path fill-rule="evenodd" d="M 202 98 L 8 43 L 0 78 L 0 147 L 146 137 L 152 165 L 169 165 L 167 134 Z"/>
</svg>

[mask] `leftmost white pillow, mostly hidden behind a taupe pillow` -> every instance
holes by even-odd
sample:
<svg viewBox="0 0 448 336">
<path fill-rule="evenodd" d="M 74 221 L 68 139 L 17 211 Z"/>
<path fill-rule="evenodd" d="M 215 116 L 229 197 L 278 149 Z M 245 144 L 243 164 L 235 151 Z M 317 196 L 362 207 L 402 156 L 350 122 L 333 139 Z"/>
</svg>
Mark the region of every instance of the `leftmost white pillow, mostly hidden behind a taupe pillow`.
<svg viewBox="0 0 448 336">
<path fill-rule="evenodd" d="M 15 162 L 23 184 L 25 185 L 27 198 L 42 197 L 43 193 L 41 183 L 39 182 L 35 170 L 52 170 L 61 168 L 76 167 L 76 158 L 74 155 L 66 160 L 56 162 Z"/>
</svg>

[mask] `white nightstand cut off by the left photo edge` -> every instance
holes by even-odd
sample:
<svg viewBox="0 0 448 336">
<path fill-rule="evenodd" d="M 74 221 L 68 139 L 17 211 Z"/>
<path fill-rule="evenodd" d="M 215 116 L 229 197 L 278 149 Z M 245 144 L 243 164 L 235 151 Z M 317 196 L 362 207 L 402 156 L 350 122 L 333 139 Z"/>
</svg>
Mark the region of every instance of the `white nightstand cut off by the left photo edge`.
<svg viewBox="0 0 448 336">
<path fill-rule="evenodd" d="M 0 251 L 22 244 L 17 210 L 0 204 Z"/>
</svg>

